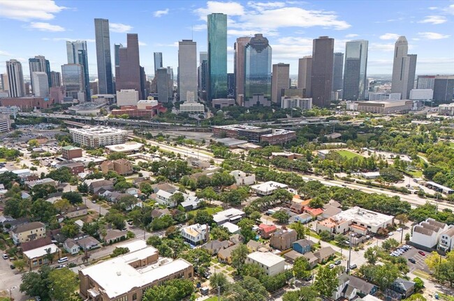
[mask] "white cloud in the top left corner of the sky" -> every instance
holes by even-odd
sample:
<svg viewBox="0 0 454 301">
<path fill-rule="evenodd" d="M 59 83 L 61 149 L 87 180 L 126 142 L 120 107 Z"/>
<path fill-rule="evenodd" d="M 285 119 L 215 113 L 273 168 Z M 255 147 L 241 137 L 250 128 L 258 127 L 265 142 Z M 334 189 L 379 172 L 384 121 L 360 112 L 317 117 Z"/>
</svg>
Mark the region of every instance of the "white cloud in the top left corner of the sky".
<svg viewBox="0 0 454 301">
<path fill-rule="evenodd" d="M 21 21 L 52 20 L 56 13 L 65 8 L 64 6 L 57 6 L 55 1 L 50 0 L 0 1 L 0 17 Z"/>
</svg>

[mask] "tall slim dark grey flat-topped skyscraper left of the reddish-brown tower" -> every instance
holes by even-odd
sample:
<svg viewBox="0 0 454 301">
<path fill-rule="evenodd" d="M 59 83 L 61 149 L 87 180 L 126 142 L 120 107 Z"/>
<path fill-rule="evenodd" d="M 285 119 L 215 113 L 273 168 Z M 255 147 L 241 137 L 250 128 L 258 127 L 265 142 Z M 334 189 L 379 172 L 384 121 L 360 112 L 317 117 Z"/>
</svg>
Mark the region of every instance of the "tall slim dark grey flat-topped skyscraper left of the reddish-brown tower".
<svg viewBox="0 0 454 301">
<path fill-rule="evenodd" d="M 94 31 L 96 38 L 96 62 L 98 65 L 98 92 L 100 94 L 113 94 L 109 20 L 95 19 Z"/>
</svg>

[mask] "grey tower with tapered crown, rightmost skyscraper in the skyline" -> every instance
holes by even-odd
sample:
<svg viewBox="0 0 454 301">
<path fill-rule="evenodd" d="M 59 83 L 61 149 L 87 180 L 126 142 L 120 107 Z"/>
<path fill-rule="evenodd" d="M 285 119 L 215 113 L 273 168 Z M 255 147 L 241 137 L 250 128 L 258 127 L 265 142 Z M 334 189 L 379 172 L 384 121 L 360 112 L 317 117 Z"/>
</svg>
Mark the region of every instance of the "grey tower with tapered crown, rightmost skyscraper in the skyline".
<svg viewBox="0 0 454 301">
<path fill-rule="evenodd" d="M 402 99 L 409 98 L 415 82 L 416 54 L 408 54 L 408 50 L 407 38 L 400 36 L 394 47 L 391 93 L 400 93 Z"/>
</svg>

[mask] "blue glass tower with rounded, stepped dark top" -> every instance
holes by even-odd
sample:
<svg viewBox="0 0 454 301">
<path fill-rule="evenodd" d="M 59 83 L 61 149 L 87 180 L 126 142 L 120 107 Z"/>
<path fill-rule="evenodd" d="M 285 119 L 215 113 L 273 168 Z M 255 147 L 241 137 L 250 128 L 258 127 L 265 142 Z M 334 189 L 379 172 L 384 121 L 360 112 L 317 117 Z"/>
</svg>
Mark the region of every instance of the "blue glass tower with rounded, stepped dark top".
<svg viewBox="0 0 454 301">
<path fill-rule="evenodd" d="M 271 52 L 268 39 L 261 33 L 256 33 L 247 43 L 244 52 L 244 101 L 254 94 L 263 94 L 271 100 Z"/>
</svg>

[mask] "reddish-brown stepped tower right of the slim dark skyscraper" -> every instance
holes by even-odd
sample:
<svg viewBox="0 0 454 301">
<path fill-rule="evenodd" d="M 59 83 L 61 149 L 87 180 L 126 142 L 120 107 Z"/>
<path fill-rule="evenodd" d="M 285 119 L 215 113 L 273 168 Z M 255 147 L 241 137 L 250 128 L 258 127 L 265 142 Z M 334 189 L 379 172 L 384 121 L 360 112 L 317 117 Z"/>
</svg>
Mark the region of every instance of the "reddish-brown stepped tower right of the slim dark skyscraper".
<svg viewBox="0 0 454 301">
<path fill-rule="evenodd" d="M 140 99 L 144 99 L 142 72 L 140 72 L 139 40 L 137 33 L 128 33 L 126 47 L 119 48 L 119 66 L 115 68 L 115 88 L 135 89 Z"/>
</svg>

